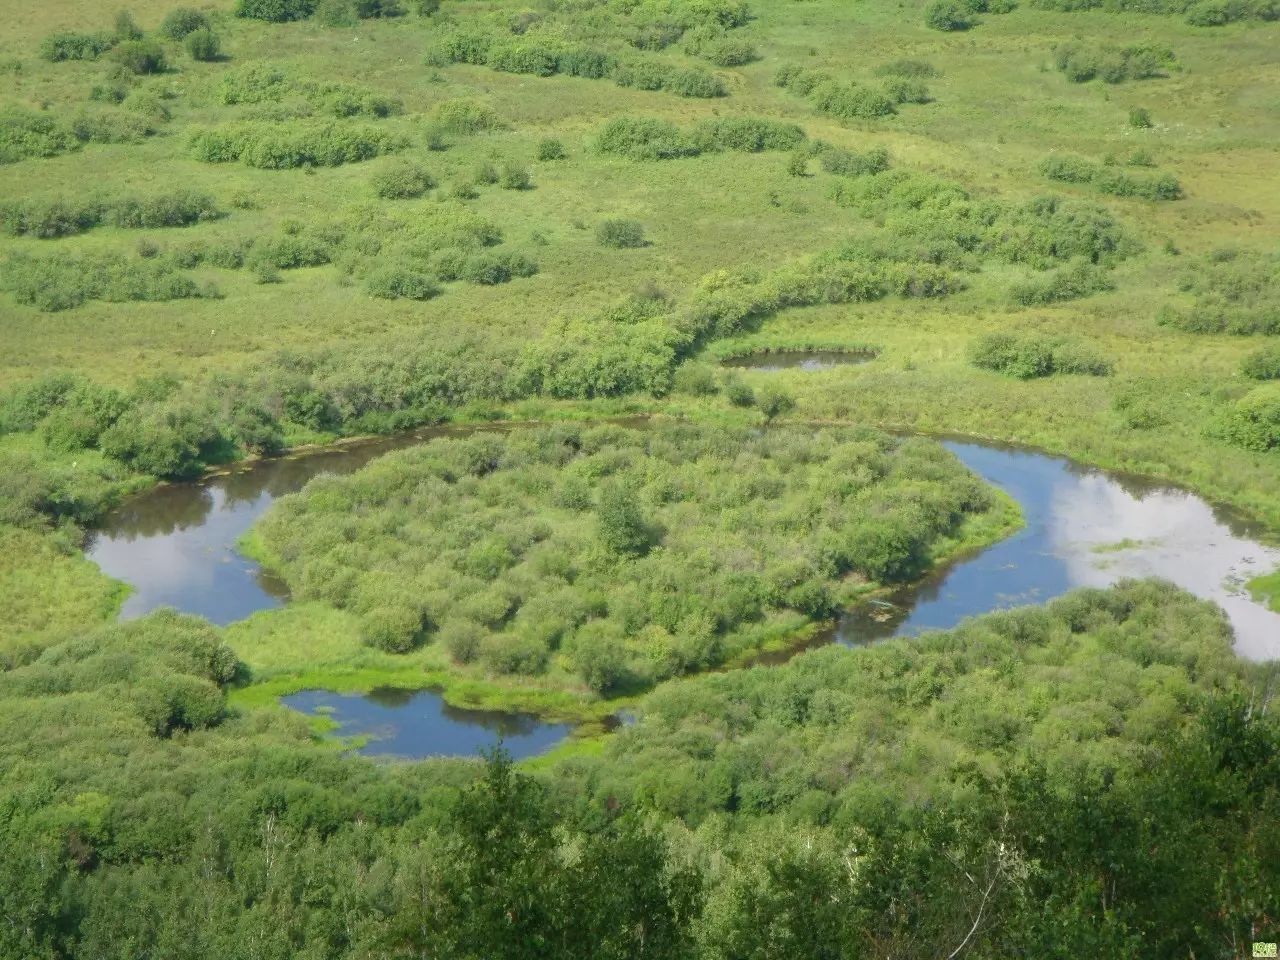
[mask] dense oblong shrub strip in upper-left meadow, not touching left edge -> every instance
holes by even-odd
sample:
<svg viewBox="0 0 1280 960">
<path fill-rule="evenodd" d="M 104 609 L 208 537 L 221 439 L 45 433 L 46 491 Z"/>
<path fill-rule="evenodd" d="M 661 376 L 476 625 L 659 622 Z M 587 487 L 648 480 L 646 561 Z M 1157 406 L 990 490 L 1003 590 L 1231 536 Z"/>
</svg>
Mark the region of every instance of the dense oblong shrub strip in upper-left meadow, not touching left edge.
<svg viewBox="0 0 1280 960">
<path fill-rule="evenodd" d="M 191 152 L 209 164 L 239 161 L 264 170 L 338 166 L 371 160 L 406 146 L 378 127 L 317 120 L 227 123 L 191 137 Z"/>
</svg>

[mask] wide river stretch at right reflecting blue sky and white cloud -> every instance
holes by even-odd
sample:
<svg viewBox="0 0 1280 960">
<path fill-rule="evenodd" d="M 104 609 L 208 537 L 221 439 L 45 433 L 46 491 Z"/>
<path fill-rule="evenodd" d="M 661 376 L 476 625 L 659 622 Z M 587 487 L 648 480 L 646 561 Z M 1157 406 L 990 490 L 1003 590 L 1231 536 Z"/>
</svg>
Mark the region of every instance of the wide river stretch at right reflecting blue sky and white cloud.
<svg viewBox="0 0 1280 960">
<path fill-rule="evenodd" d="M 1025 529 L 897 591 L 886 605 L 850 612 L 836 625 L 837 640 L 945 628 L 991 609 L 1043 603 L 1076 586 L 1158 576 L 1219 603 L 1240 654 L 1280 657 L 1280 614 L 1240 588 L 1280 563 L 1280 552 L 1249 539 L 1256 532 L 1251 525 L 1193 494 L 1146 480 L 1027 451 L 946 445 L 1021 504 Z"/>
</svg>

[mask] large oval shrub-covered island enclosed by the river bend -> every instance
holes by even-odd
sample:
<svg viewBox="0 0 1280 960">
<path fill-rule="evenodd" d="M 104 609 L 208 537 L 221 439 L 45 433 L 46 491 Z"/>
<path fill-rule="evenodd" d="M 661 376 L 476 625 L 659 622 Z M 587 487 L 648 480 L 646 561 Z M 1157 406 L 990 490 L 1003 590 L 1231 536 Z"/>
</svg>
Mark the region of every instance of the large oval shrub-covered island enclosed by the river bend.
<svg viewBox="0 0 1280 960">
<path fill-rule="evenodd" d="M 557 428 L 436 440 L 316 481 L 260 539 L 298 595 L 352 611 L 378 646 L 440 632 L 458 659 L 530 675 L 559 650 L 608 692 L 718 663 L 771 618 L 827 616 L 850 575 L 914 576 L 989 506 L 920 440 Z M 339 561 L 353 544 L 360 561 Z"/>
</svg>

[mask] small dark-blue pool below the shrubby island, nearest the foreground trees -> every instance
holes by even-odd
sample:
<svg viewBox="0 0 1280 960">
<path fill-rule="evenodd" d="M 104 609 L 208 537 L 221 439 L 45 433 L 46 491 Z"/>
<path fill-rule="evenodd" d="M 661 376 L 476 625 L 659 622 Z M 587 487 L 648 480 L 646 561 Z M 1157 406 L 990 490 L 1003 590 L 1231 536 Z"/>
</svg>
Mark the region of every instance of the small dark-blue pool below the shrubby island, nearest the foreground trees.
<svg viewBox="0 0 1280 960">
<path fill-rule="evenodd" d="M 380 687 L 367 694 L 303 690 L 282 698 L 303 713 L 324 712 L 338 723 L 339 736 L 369 736 L 362 754 L 407 756 L 475 756 L 499 740 L 513 758 L 535 756 L 570 735 L 566 723 L 544 723 L 530 713 L 499 713 L 449 707 L 433 690 Z"/>
</svg>

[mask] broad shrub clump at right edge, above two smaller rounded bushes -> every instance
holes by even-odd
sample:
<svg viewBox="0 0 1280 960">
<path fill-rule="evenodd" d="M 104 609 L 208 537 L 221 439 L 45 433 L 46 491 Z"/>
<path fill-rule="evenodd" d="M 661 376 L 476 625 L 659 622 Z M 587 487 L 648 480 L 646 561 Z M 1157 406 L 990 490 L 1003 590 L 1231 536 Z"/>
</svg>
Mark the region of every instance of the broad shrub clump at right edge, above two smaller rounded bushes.
<svg viewBox="0 0 1280 960">
<path fill-rule="evenodd" d="M 1189 333 L 1280 334 L 1280 257 L 1220 250 L 1180 282 L 1190 308 L 1164 307 L 1157 320 Z"/>
</svg>

